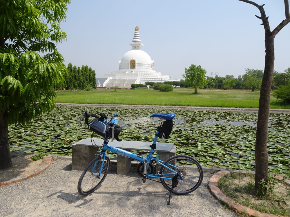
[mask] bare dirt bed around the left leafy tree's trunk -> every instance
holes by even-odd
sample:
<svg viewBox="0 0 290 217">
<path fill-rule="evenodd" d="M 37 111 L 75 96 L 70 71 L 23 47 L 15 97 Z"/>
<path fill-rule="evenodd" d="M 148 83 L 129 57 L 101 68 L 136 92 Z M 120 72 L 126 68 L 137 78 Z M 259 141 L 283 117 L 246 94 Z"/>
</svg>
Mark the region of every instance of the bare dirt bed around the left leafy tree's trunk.
<svg viewBox="0 0 290 217">
<path fill-rule="evenodd" d="M 32 161 L 32 155 L 11 155 L 12 167 L 0 170 L 0 182 L 9 181 L 17 176 L 27 174 L 35 170 L 42 163 L 42 159 Z"/>
</svg>

